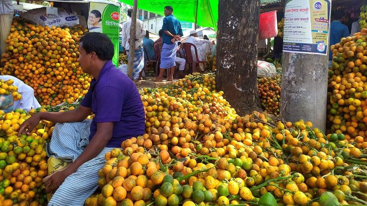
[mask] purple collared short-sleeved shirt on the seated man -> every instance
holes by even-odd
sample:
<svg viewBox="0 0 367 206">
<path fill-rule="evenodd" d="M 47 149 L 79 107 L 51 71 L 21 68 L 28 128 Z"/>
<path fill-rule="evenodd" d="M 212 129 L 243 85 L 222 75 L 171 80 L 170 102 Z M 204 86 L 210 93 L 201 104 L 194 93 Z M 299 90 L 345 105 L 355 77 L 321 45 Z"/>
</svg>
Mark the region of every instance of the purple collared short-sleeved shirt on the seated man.
<svg viewBox="0 0 367 206">
<path fill-rule="evenodd" d="M 144 134 L 145 114 L 137 87 L 112 61 L 102 68 L 81 105 L 91 107 L 95 117 L 89 140 L 97 131 L 97 123 L 114 122 L 112 138 L 106 147 L 121 147 L 127 138 Z"/>
</svg>

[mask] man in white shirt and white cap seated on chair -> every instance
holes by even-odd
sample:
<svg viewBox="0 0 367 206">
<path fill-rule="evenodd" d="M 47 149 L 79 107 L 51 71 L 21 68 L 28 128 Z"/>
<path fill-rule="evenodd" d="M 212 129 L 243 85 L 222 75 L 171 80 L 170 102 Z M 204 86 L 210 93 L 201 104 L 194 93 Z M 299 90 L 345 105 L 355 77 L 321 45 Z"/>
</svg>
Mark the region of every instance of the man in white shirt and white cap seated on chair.
<svg viewBox="0 0 367 206">
<path fill-rule="evenodd" d="M 196 30 L 190 31 L 190 37 L 186 39 L 185 43 L 191 43 L 196 46 L 199 61 L 206 61 L 206 55 L 210 53 L 211 42 L 209 40 L 198 38 Z M 195 49 L 191 47 L 192 58 L 196 61 Z"/>
</svg>

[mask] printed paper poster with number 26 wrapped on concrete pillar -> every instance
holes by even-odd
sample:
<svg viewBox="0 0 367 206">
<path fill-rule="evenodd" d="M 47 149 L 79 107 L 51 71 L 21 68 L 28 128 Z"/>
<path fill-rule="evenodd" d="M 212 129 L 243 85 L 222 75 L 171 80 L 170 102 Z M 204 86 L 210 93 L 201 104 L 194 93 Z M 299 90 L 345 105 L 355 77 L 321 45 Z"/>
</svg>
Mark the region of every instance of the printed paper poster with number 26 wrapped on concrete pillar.
<svg viewBox="0 0 367 206">
<path fill-rule="evenodd" d="M 287 0 L 283 51 L 327 55 L 331 0 Z"/>
</svg>

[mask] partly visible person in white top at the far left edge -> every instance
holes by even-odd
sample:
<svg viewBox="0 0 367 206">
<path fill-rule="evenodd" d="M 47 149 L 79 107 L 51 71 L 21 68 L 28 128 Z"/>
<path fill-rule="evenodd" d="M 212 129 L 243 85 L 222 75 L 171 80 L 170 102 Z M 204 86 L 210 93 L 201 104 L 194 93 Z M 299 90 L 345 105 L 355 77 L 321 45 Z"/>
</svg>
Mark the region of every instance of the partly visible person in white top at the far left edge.
<svg viewBox="0 0 367 206">
<path fill-rule="evenodd" d="M 10 26 L 13 21 L 14 9 L 11 0 L 0 0 L 0 56 L 5 52 L 5 40 L 10 33 Z M 1 67 L 1 65 L 0 65 Z"/>
</svg>

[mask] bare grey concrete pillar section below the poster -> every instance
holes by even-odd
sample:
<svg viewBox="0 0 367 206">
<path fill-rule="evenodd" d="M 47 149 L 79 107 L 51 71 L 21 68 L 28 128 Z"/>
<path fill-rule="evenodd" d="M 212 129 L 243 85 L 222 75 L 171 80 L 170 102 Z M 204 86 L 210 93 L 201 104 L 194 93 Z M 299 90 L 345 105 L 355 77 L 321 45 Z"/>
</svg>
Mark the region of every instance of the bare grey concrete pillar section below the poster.
<svg viewBox="0 0 367 206">
<path fill-rule="evenodd" d="M 326 129 L 328 56 L 283 52 L 280 115 Z"/>
</svg>

